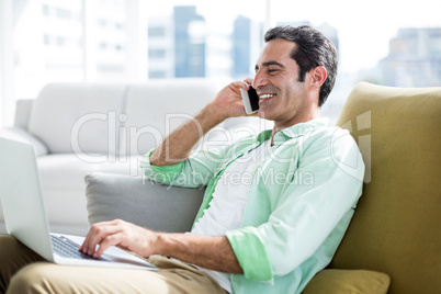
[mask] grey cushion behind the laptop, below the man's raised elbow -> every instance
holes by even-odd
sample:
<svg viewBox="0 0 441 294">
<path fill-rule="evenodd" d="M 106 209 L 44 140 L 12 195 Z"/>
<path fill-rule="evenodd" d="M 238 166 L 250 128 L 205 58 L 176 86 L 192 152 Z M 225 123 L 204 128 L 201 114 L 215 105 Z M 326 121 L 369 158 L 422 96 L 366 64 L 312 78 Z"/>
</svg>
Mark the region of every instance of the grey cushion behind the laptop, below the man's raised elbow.
<svg viewBox="0 0 441 294">
<path fill-rule="evenodd" d="M 84 181 L 90 225 L 120 218 L 154 230 L 188 231 L 204 194 L 114 173 L 94 172 Z"/>
</svg>

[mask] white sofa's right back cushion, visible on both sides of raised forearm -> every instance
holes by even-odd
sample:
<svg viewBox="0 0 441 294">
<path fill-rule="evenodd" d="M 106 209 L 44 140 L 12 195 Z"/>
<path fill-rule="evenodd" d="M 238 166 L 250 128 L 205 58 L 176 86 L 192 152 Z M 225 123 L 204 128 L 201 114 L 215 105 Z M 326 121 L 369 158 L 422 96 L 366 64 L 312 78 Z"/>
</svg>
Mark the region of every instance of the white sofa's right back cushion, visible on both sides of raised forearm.
<svg viewBox="0 0 441 294">
<path fill-rule="evenodd" d="M 213 101 L 223 86 L 201 78 L 131 84 L 124 110 L 124 133 L 121 135 L 121 146 L 126 148 L 124 154 L 144 155 L 156 147 L 165 136 Z M 230 117 L 206 134 L 195 148 L 225 146 L 272 126 L 272 122 L 258 117 Z"/>
</svg>

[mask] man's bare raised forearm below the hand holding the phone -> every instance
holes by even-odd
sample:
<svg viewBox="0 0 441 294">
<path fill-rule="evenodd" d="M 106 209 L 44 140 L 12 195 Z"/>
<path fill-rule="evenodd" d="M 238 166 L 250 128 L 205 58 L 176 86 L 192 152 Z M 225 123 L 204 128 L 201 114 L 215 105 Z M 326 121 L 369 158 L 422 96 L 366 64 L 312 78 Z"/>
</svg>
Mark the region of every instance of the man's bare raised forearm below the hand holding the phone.
<svg viewBox="0 0 441 294">
<path fill-rule="evenodd" d="M 226 117 L 213 104 L 205 106 L 193 120 L 170 134 L 151 154 L 154 166 L 168 166 L 185 160 L 197 142 Z"/>
</svg>

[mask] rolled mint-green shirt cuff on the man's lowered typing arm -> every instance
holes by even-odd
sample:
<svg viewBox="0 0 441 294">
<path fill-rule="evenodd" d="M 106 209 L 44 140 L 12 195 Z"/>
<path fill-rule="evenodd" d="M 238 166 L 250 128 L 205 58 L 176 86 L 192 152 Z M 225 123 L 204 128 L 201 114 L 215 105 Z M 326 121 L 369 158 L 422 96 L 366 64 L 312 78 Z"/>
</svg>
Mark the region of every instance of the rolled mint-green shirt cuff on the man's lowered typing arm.
<svg viewBox="0 0 441 294">
<path fill-rule="evenodd" d="M 245 278 L 255 281 L 271 281 L 274 278 L 270 258 L 257 228 L 230 230 L 226 236 Z"/>
</svg>

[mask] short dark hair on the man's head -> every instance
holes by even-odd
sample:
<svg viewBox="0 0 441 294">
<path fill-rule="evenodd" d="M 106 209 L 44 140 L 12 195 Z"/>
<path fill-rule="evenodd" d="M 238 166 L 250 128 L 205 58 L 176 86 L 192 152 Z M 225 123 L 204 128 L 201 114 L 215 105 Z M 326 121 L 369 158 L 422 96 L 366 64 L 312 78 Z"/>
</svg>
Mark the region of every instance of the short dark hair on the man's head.
<svg viewBox="0 0 441 294">
<path fill-rule="evenodd" d="M 324 34 L 308 25 L 298 27 L 290 25 L 276 26 L 269 30 L 264 35 L 267 43 L 276 38 L 292 41 L 297 45 L 291 53 L 291 58 L 293 58 L 299 67 L 299 81 L 305 81 L 306 72 L 313 68 L 317 66 L 326 68 L 328 76 L 320 88 L 318 98 L 318 105 L 321 106 L 336 83 L 338 61 L 333 43 Z"/>
</svg>

